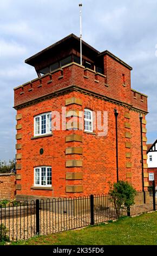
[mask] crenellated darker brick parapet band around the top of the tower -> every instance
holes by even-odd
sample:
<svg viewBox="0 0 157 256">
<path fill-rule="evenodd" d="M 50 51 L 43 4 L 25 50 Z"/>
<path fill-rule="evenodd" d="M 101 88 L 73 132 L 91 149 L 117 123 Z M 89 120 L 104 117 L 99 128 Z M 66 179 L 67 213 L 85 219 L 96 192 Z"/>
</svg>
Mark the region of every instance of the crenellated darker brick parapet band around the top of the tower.
<svg viewBox="0 0 157 256">
<path fill-rule="evenodd" d="M 31 103 L 37 99 L 42 100 L 45 96 L 61 92 L 71 86 L 106 97 L 108 100 L 112 99 L 129 104 L 147 112 L 147 96 L 131 89 L 130 83 L 125 86 L 116 83 L 116 81 L 114 81 L 114 85 L 112 83 L 107 84 L 107 75 L 74 62 L 14 88 L 14 107 L 22 107 L 25 103 Z"/>
</svg>

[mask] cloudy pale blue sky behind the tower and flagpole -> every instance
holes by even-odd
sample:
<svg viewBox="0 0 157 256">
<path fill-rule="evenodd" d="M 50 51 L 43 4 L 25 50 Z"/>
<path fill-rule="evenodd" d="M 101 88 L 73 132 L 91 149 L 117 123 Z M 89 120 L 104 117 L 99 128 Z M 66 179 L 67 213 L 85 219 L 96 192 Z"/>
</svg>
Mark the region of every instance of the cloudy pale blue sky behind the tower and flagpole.
<svg viewBox="0 0 157 256">
<path fill-rule="evenodd" d="M 15 157 L 13 88 L 36 78 L 24 60 L 70 33 L 79 36 L 79 2 L 0 3 L 1 160 Z M 152 143 L 157 138 L 157 0 L 82 0 L 82 4 L 83 40 L 133 66 L 132 88 L 149 96 L 147 137 Z"/>
</svg>

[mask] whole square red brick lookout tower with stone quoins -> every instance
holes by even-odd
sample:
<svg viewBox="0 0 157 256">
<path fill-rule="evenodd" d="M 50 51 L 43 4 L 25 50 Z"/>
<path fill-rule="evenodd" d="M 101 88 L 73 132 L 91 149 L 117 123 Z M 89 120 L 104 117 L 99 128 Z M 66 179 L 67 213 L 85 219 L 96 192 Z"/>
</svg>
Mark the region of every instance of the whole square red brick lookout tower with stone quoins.
<svg viewBox="0 0 157 256">
<path fill-rule="evenodd" d="M 74 34 L 25 63 L 38 77 L 14 89 L 17 200 L 106 193 L 118 179 L 147 189 L 147 95 L 132 68 L 84 41 L 80 65 Z"/>
</svg>

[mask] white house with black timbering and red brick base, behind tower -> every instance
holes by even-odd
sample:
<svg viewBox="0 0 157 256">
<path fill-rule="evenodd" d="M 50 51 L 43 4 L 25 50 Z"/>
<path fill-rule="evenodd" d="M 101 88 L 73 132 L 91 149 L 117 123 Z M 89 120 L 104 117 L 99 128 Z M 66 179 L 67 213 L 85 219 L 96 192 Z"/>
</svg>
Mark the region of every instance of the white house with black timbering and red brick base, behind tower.
<svg viewBox="0 0 157 256">
<path fill-rule="evenodd" d="M 155 180 L 155 187 L 157 186 L 157 139 L 153 144 L 148 144 L 147 151 L 147 164 L 149 175 L 149 186 L 152 185 L 152 181 Z"/>
</svg>

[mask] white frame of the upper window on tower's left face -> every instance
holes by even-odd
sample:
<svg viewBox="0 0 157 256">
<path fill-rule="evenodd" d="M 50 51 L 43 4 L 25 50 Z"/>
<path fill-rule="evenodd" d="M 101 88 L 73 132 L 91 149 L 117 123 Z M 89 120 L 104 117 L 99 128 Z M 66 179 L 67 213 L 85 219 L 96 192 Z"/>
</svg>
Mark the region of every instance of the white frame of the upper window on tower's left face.
<svg viewBox="0 0 157 256">
<path fill-rule="evenodd" d="M 46 128 L 46 132 L 45 133 L 42 133 L 42 116 L 45 115 L 46 118 L 45 118 L 45 128 Z M 50 131 L 47 130 L 47 120 L 48 120 L 48 115 L 50 115 Z M 39 133 L 36 133 L 36 118 L 40 118 L 40 123 L 39 123 L 39 126 L 40 126 L 40 132 Z M 34 137 L 37 137 L 37 136 L 43 136 L 43 135 L 49 135 L 52 133 L 52 127 L 51 127 L 51 112 L 45 112 L 45 113 L 42 113 L 42 114 L 39 114 L 39 115 L 35 115 L 34 117 Z"/>
</svg>

